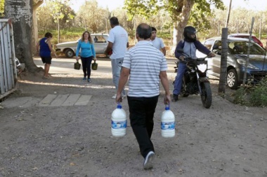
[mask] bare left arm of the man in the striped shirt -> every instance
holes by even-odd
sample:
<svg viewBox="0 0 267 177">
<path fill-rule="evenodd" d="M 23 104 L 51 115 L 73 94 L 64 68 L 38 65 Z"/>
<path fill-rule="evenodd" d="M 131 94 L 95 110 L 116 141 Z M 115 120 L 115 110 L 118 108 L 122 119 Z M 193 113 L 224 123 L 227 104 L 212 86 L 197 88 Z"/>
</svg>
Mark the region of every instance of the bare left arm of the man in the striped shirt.
<svg viewBox="0 0 267 177">
<path fill-rule="evenodd" d="M 121 75 L 119 76 L 119 86 L 117 90 L 116 103 L 122 102 L 122 89 L 124 88 L 124 85 L 126 85 L 128 81 L 129 74 L 130 74 L 130 69 L 122 67 Z"/>
</svg>

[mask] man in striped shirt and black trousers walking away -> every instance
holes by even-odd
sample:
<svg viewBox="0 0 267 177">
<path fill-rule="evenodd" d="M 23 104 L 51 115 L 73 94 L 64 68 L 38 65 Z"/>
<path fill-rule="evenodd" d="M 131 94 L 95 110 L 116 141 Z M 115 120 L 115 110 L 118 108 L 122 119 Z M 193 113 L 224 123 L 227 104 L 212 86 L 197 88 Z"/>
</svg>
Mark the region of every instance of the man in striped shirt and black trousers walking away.
<svg viewBox="0 0 267 177">
<path fill-rule="evenodd" d="M 139 24 L 136 29 L 138 43 L 126 52 L 119 78 L 116 102 L 122 101 L 122 90 L 129 78 L 128 105 L 133 133 L 144 157 L 143 168 L 152 169 L 155 150 L 151 141 L 154 113 L 159 97 L 159 81 L 164 90 L 164 104 L 171 96 L 167 78 L 167 61 L 150 42 L 151 27 Z"/>
</svg>

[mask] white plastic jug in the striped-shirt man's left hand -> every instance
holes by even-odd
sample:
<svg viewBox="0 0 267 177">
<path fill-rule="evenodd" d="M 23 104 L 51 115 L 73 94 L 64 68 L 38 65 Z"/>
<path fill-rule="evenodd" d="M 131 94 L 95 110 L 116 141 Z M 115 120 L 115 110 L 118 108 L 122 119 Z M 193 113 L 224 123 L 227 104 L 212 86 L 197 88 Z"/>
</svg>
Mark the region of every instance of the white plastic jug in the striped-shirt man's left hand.
<svg viewBox="0 0 267 177">
<path fill-rule="evenodd" d="M 127 119 L 126 113 L 118 103 L 117 108 L 111 115 L 111 133 L 112 136 L 124 136 L 126 134 Z"/>
</svg>

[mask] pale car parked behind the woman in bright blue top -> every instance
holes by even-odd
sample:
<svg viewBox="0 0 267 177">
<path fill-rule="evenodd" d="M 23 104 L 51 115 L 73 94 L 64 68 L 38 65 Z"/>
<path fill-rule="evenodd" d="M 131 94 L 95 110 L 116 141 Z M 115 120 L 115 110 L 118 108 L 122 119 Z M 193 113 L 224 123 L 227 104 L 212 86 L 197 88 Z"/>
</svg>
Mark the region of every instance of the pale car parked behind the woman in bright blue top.
<svg viewBox="0 0 267 177">
<path fill-rule="evenodd" d="M 108 34 L 91 34 L 91 37 L 93 38 L 96 54 L 105 54 L 105 49 L 108 46 Z M 74 57 L 79 39 L 72 42 L 58 43 L 56 51 L 63 52 L 66 57 Z"/>
</svg>

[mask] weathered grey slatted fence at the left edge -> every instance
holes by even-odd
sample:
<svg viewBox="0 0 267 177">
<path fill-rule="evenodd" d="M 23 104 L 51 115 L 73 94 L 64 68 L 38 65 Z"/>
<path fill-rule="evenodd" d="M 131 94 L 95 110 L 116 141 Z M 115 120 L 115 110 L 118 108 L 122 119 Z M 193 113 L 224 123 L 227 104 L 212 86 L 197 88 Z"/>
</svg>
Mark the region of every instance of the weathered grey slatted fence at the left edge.
<svg viewBox="0 0 267 177">
<path fill-rule="evenodd" d="M 11 19 L 0 19 L 0 99 L 18 88 Z"/>
</svg>

